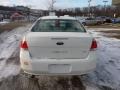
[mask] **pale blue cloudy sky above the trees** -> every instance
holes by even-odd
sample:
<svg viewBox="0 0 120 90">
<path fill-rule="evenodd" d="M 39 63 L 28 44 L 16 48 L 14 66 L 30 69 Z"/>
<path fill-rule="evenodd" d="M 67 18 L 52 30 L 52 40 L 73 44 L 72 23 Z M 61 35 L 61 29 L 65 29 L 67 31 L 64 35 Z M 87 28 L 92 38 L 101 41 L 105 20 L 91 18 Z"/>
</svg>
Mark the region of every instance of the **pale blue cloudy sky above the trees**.
<svg viewBox="0 0 120 90">
<path fill-rule="evenodd" d="M 57 8 L 72 8 L 88 6 L 88 0 L 56 0 L 55 7 Z M 91 5 L 104 5 L 104 0 L 92 0 Z M 112 0 L 107 0 L 108 5 Z M 36 9 L 46 9 L 48 7 L 47 0 L 0 0 L 0 5 L 13 6 L 24 5 Z"/>
</svg>

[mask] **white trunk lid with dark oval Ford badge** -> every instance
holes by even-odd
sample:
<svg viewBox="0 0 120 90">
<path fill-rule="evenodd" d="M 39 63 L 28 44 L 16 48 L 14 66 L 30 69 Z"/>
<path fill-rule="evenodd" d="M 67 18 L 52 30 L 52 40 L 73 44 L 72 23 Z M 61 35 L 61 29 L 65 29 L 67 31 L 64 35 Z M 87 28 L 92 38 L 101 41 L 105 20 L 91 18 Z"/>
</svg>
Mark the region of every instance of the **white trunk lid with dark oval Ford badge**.
<svg viewBox="0 0 120 90">
<path fill-rule="evenodd" d="M 83 59 L 89 54 L 93 38 L 88 33 L 30 32 L 26 36 L 32 58 Z"/>
</svg>

